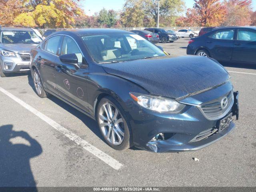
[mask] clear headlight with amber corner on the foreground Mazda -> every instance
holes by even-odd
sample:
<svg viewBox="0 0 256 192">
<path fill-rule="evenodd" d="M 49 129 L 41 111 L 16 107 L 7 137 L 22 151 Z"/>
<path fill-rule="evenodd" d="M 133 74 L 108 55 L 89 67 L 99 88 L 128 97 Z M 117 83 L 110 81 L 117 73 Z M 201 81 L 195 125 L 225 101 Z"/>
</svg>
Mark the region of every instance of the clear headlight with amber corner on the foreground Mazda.
<svg viewBox="0 0 256 192">
<path fill-rule="evenodd" d="M 176 100 L 169 98 L 150 96 L 133 92 L 130 93 L 130 96 L 140 106 L 157 112 L 179 113 L 185 107 L 184 104 L 180 104 Z"/>
</svg>

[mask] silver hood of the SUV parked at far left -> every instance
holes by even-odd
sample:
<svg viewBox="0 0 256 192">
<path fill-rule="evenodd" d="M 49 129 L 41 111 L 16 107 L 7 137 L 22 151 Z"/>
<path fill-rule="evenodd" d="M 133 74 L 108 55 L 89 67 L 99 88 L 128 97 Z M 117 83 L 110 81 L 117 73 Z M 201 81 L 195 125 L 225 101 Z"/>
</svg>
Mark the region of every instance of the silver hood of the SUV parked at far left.
<svg viewBox="0 0 256 192">
<path fill-rule="evenodd" d="M 8 51 L 18 53 L 20 51 L 30 51 L 32 48 L 35 48 L 38 44 L 0 44 L 0 48 Z"/>
</svg>

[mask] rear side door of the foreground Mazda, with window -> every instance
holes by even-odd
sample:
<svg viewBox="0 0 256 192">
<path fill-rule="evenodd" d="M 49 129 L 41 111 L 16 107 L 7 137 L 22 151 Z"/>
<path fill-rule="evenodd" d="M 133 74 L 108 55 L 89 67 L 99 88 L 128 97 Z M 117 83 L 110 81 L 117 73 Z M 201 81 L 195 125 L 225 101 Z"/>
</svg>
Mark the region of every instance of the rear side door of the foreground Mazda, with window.
<svg viewBox="0 0 256 192">
<path fill-rule="evenodd" d="M 40 77 L 44 87 L 56 92 L 55 61 L 58 58 L 61 36 L 53 36 L 42 44 L 41 52 L 38 52 L 37 62 L 40 64 Z"/>
</svg>

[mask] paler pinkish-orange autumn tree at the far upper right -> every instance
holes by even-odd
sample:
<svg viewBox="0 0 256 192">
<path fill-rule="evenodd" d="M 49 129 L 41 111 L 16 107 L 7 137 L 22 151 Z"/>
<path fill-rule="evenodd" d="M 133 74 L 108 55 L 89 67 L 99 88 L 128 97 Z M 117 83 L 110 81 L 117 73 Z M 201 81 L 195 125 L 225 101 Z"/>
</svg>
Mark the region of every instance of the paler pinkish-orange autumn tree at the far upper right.
<svg viewBox="0 0 256 192">
<path fill-rule="evenodd" d="M 227 15 L 224 26 L 245 26 L 251 24 L 252 0 L 225 0 Z"/>
</svg>

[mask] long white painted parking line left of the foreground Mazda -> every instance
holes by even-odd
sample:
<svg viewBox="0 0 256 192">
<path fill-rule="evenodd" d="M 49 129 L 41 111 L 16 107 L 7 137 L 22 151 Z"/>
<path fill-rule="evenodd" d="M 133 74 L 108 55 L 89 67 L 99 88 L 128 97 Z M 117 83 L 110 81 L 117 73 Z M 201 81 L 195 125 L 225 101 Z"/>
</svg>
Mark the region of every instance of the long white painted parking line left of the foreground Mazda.
<svg viewBox="0 0 256 192">
<path fill-rule="evenodd" d="M 24 108 L 26 108 L 30 112 L 34 113 L 40 119 L 42 119 L 43 121 L 48 123 L 50 126 L 52 126 L 54 129 L 56 129 L 59 132 L 61 132 L 62 134 L 64 134 L 70 140 L 74 141 L 76 144 L 78 144 L 79 146 L 82 146 L 82 148 L 84 148 L 88 152 L 90 152 L 93 155 L 95 155 L 96 157 L 98 157 L 100 160 L 102 160 L 103 162 L 108 164 L 110 167 L 114 168 L 115 170 L 118 170 L 123 166 L 123 164 L 121 164 L 120 162 L 118 162 L 117 160 L 115 160 L 114 158 L 109 156 L 108 154 L 102 152 L 98 148 L 94 147 L 92 144 L 88 143 L 87 141 L 78 137 L 76 134 L 74 134 L 74 133 L 70 132 L 69 130 L 67 130 L 66 128 L 62 127 L 61 125 L 56 123 L 54 120 L 45 116 L 44 114 L 42 114 L 41 112 L 39 112 L 38 110 L 33 108 L 32 106 L 26 104 L 24 101 L 20 100 L 19 98 L 17 98 L 10 92 L 6 91 L 2 87 L 0 87 L 0 91 L 2 93 L 6 94 L 7 96 L 9 96 L 10 98 L 12 98 L 14 101 L 16 101 L 18 104 L 22 105 Z"/>
</svg>

